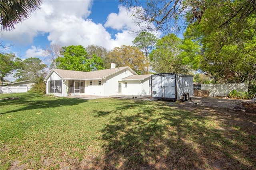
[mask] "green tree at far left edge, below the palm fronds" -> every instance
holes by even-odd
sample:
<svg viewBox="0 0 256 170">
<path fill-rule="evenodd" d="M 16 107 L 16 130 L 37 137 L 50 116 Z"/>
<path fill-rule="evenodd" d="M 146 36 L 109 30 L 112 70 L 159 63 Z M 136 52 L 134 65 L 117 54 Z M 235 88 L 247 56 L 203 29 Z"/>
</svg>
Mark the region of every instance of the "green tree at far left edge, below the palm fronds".
<svg viewBox="0 0 256 170">
<path fill-rule="evenodd" d="M 1 53 L 0 55 L 0 77 L 1 82 L 3 82 L 5 76 L 12 74 L 14 70 L 20 68 L 22 61 L 12 53 Z"/>
</svg>

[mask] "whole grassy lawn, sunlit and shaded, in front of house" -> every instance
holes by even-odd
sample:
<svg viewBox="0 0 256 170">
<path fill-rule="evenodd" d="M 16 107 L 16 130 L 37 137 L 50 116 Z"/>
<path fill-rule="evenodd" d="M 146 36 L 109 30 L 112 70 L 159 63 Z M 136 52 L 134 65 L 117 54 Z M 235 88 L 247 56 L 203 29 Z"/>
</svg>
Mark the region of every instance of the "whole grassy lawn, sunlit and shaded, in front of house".
<svg viewBox="0 0 256 170">
<path fill-rule="evenodd" d="M 256 169 L 256 115 L 1 94 L 1 169 Z"/>
</svg>

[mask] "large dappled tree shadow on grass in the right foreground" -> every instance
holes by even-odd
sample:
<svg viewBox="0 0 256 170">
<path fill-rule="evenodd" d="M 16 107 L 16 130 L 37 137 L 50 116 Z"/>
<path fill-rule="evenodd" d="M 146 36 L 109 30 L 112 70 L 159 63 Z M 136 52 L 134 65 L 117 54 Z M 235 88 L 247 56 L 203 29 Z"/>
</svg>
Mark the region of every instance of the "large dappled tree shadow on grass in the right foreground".
<svg viewBox="0 0 256 170">
<path fill-rule="evenodd" d="M 113 116 L 102 130 L 102 169 L 254 169 L 255 130 L 230 113 L 215 109 L 180 109 L 166 103 L 123 103 L 98 116 Z M 131 109 L 132 108 L 132 109 Z M 208 109 L 208 110 L 207 110 Z M 126 114 L 130 111 L 133 113 Z M 203 111 L 202 111 L 203 110 Z M 222 119 L 226 121 L 222 122 Z M 226 124 L 225 124 L 226 123 Z M 234 123 L 234 122 L 233 122 Z M 248 148 L 250 148 L 248 150 Z"/>
</svg>

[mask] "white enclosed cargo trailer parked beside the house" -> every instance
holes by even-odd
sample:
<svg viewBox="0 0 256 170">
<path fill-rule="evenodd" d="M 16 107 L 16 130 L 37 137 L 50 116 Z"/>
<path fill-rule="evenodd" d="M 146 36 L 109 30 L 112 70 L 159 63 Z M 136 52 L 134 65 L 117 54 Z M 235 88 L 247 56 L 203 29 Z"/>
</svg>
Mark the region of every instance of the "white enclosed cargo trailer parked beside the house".
<svg viewBox="0 0 256 170">
<path fill-rule="evenodd" d="M 151 95 L 154 99 L 185 101 L 193 94 L 192 75 L 161 73 L 151 76 Z"/>
</svg>

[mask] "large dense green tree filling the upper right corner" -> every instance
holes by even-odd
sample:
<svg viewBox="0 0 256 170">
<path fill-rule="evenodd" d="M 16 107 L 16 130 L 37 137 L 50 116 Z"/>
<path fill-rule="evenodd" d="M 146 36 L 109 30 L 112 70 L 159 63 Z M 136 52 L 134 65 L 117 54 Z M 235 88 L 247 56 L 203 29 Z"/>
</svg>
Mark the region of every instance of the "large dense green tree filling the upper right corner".
<svg viewBox="0 0 256 170">
<path fill-rule="evenodd" d="M 214 82 L 243 83 L 256 78 L 255 1 L 206 1 L 200 22 L 191 22 L 185 38 L 201 45 L 200 69 Z M 201 8 L 201 7 L 198 7 Z M 191 11 L 187 20 L 193 20 Z"/>
</svg>

